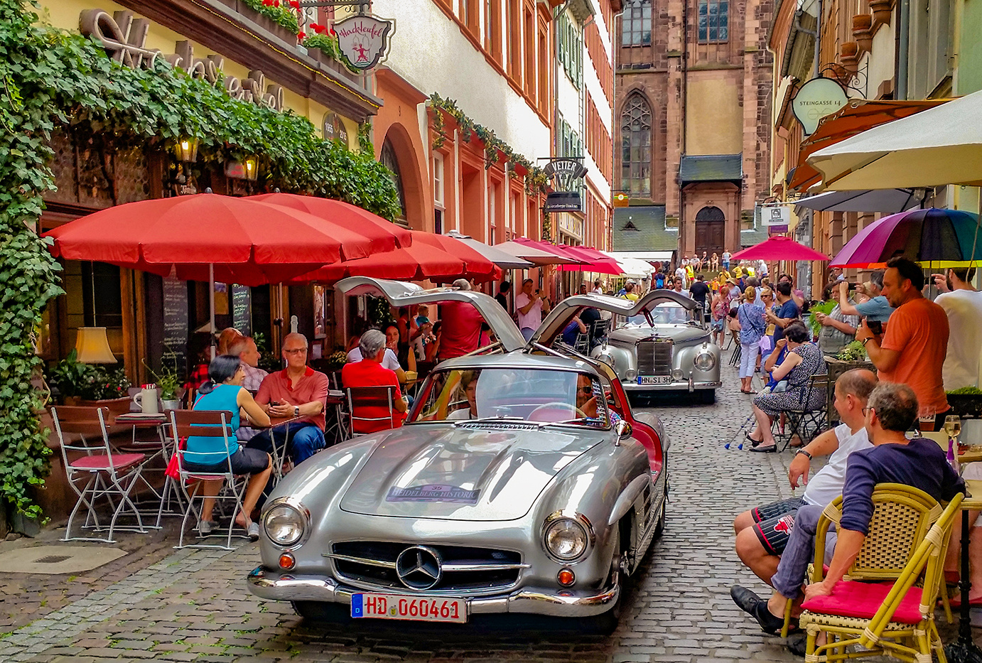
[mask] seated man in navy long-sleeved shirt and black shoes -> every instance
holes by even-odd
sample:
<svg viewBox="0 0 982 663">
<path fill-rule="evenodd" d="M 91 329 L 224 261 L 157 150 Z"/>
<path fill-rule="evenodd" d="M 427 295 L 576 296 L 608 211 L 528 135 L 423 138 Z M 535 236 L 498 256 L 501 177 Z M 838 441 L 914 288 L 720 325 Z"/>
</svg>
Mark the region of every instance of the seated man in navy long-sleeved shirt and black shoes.
<svg viewBox="0 0 982 663">
<path fill-rule="evenodd" d="M 835 554 L 825 580 L 805 587 L 805 599 L 831 594 L 855 561 L 873 518 L 876 484 L 913 486 L 939 502 L 964 492 L 964 481 L 948 464 L 937 442 L 923 437 L 908 440 L 904 435 L 917 419 L 917 408 L 917 397 L 905 384 L 881 382 L 870 394 L 865 416 L 873 448 L 849 456 Z M 801 583 L 815 555 L 815 531 L 823 509 L 807 505 L 798 510 L 778 573 L 771 578 L 774 593 L 769 600 L 740 586 L 731 589 L 736 605 L 750 613 L 767 633 L 781 630 L 788 599 L 797 603 L 800 598 Z"/>
</svg>

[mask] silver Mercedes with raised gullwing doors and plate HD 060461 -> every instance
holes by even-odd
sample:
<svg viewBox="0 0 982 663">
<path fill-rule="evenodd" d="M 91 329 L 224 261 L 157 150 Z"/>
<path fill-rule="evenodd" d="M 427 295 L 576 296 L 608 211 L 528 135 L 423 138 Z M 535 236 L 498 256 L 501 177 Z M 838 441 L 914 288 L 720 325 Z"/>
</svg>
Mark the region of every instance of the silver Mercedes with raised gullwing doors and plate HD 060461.
<svg viewBox="0 0 982 663">
<path fill-rule="evenodd" d="M 631 412 L 617 374 L 560 332 L 585 306 L 626 302 L 569 298 L 526 343 L 482 293 L 367 277 L 337 287 L 395 306 L 469 303 L 497 340 L 437 365 L 405 425 L 284 477 L 263 509 L 250 591 L 311 619 L 530 613 L 613 630 L 665 525 L 669 441 L 657 417 Z"/>
</svg>

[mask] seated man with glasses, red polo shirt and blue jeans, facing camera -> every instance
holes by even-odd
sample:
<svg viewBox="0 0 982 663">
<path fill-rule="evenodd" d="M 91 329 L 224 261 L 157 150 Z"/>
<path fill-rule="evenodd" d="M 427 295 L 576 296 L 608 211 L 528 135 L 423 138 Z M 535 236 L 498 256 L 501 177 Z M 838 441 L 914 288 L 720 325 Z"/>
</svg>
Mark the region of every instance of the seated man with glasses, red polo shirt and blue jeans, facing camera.
<svg viewBox="0 0 982 663">
<path fill-rule="evenodd" d="M 287 426 L 287 451 L 298 466 L 327 446 L 324 441 L 324 406 L 327 403 L 327 375 L 306 365 L 307 340 L 302 334 L 287 334 L 283 340 L 283 359 L 287 367 L 270 373 L 259 385 L 255 402 L 271 417 L 300 417 Z M 265 430 L 248 441 L 246 447 L 272 451 Z M 282 435 L 276 434 L 277 444 Z"/>
</svg>

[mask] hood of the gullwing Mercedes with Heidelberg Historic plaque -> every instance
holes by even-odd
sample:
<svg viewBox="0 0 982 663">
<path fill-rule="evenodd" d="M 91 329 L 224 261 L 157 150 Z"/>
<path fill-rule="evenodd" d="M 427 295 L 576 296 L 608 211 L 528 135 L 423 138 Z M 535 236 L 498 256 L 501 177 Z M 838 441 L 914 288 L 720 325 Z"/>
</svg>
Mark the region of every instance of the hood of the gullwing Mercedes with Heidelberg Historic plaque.
<svg viewBox="0 0 982 663">
<path fill-rule="evenodd" d="M 389 435 L 351 482 L 342 510 L 452 521 L 516 520 L 557 473 L 607 434 L 477 425 L 409 425 Z"/>
</svg>

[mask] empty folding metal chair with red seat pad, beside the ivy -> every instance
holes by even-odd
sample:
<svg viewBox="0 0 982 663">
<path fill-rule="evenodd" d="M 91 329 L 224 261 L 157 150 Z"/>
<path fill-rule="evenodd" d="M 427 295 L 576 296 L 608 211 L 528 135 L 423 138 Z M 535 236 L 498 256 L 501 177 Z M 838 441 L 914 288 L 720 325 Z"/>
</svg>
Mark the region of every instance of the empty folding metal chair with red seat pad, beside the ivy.
<svg viewBox="0 0 982 663">
<path fill-rule="evenodd" d="M 65 527 L 63 541 L 103 541 L 115 543 L 113 533 L 116 530 L 137 531 L 146 533 L 136 504 L 130 497 L 136 481 L 140 478 L 146 455 L 139 453 L 121 454 L 113 451 L 109 444 L 109 433 L 106 430 L 108 408 L 78 408 L 60 406 L 51 408 L 51 418 L 54 420 L 58 441 L 61 444 L 62 461 L 68 475 L 69 485 L 78 494 L 79 499 L 72 509 Z M 65 435 L 79 435 L 78 442 L 68 442 Z M 69 453 L 76 458 L 69 458 Z M 84 482 L 80 486 L 80 479 Z M 118 502 L 114 502 L 113 497 Z M 72 522 L 82 505 L 88 510 L 83 529 L 105 531 L 99 524 L 99 516 L 95 511 L 95 501 L 105 497 L 113 510 L 109 522 L 108 535 L 105 538 L 72 536 Z M 116 521 L 124 510 L 136 517 L 136 527 L 117 526 Z"/>
</svg>

